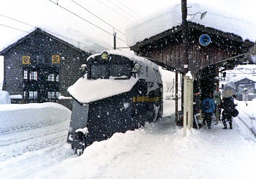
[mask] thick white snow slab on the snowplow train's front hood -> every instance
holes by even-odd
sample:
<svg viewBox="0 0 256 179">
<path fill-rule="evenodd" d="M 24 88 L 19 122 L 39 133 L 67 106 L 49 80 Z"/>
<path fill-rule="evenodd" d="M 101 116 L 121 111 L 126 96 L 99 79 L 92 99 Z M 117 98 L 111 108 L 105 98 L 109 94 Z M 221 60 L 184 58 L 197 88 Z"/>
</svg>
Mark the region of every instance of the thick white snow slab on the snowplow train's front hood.
<svg viewBox="0 0 256 179">
<path fill-rule="evenodd" d="M 81 77 L 67 91 L 78 102 L 89 104 L 99 99 L 105 99 L 131 91 L 137 81 L 138 79 L 135 77 L 131 77 L 129 80 L 87 80 Z"/>
</svg>

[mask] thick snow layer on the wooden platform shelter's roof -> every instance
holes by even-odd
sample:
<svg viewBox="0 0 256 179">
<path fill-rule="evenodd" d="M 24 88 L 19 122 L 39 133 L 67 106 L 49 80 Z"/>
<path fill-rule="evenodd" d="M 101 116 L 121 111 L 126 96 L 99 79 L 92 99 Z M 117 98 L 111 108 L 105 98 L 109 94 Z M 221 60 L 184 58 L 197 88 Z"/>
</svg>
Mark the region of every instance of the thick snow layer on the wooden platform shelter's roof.
<svg viewBox="0 0 256 179">
<path fill-rule="evenodd" d="M 240 36 L 242 39 L 249 39 L 255 42 L 256 39 L 256 24 L 253 21 L 239 19 L 236 14 L 220 11 L 217 7 L 212 7 L 211 4 L 188 4 L 188 14 L 197 12 L 206 12 L 205 18 L 200 20 L 200 14 L 188 15 L 187 20 L 200 25 L 216 28 L 217 30 L 232 33 Z M 176 26 L 181 26 L 181 3 L 162 9 L 149 17 L 131 23 L 126 28 L 127 45 L 129 47 L 137 42 L 142 42 L 144 39 L 154 37 Z M 193 18 L 193 19 L 192 19 Z"/>
</svg>

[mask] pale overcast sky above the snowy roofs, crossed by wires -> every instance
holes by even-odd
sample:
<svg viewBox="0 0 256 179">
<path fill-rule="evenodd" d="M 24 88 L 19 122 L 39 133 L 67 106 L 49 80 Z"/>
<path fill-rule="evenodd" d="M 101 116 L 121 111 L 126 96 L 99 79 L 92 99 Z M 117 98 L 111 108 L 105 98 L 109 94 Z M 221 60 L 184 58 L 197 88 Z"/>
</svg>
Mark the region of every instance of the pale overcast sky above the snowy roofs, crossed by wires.
<svg viewBox="0 0 256 179">
<path fill-rule="evenodd" d="M 86 41 L 90 45 L 94 42 L 105 42 L 113 46 L 113 27 L 117 31 L 117 47 L 126 47 L 125 28 L 129 23 L 145 18 L 147 15 L 165 9 L 181 0 L 51 0 L 61 7 L 79 15 L 84 20 L 53 4 L 49 0 L 1 0 L 0 2 L 0 50 L 26 35 L 23 31 L 32 31 L 37 26 L 56 34 L 68 36 L 78 41 Z M 77 2 L 102 20 L 95 18 L 88 11 L 79 7 Z M 200 4 L 211 4 L 213 8 L 228 12 L 243 20 L 255 21 L 255 0 L 187 0 Z M 132 10 L 131 10 L 132 9 Z M 207 9 L 206 9 L 207 11 Z M 4 18 L 2 15 L 9 18 Z M 28 23 L 18 23 L 15 20 Z M 207 18 L 207 17 L 206 17 Z M 88 20 L 89 22 L 86 22 Z M 91 23 L 94 23 L 92 25 Z M 10 27 L 7 27 L 10 26 Z M 96 26 L 98 26 L 99 29 Z M 18 28 L 19 30 L 13 29 Z M 108 31 L 108 33 L 106 32 Z M 122 33 L 124 34 L 121 34 Z M 68 33 L 67 33 L 68 32 Z M 78 35 L 79 34 L 79 35 Z M 82 35 L 80 35 L 82 34 Z M 124 42 L 122 42 L 121 40 Z M 1 58 L 0 58 L 1 64 Z M 3 69 L 0 65 L 0 81 Z"/>
</svg>

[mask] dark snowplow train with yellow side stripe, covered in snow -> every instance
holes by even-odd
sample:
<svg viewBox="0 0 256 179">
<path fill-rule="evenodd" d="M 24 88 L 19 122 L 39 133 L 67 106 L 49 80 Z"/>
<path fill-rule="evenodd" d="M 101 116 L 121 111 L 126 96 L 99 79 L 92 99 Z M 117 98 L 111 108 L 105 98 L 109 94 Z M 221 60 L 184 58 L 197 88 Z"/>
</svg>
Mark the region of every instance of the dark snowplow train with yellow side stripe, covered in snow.
<svg viewBox="0 0 256 179">
<path fill-rule="evenodd" d="M 108 50 L 87 58 L 68 88 L 74 99 L 67 142 L 80 155 L 94 141 L 162 117 L 159 67 L 131 52 Z"/>
</svg>

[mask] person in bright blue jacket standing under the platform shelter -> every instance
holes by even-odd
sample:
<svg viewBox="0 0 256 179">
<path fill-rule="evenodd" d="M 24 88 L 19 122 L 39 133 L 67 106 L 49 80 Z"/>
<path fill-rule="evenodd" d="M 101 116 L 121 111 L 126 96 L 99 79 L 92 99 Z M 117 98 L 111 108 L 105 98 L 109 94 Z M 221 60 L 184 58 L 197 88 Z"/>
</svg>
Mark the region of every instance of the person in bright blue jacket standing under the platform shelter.
<svg viewBox="0 0 256 179">
<path fill-rule="evenodd" d="M 211 93 L 206 95 L 206 99 L 203 99 L 202 111 L 204 113 L 204 120 L 207 122 L 208 129 L 211 129 L 211 115 L 215 111 L 214 99 L 211 98 Z"/>
</svg>

